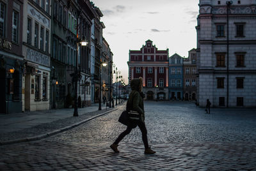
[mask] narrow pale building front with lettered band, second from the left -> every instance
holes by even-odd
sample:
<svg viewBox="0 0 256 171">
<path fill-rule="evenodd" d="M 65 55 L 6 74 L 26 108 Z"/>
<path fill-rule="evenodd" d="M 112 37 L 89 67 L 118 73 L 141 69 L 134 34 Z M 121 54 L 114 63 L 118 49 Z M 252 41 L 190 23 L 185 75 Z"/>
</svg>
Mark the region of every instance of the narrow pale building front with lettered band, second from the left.
<svg viewBox="0 0 256 171">
<path fill-rule="evenodd" d="M 24 0 L 22 110 L 49 110 L 51 1 Z"/>
</svg>

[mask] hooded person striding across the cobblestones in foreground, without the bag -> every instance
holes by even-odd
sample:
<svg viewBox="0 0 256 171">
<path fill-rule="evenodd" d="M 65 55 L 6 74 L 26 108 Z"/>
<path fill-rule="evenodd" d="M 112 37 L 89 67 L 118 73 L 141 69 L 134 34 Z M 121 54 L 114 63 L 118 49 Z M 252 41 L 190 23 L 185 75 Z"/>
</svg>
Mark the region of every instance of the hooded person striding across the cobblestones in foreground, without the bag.
<svg viewBox="0 0 256 171">
<path fill-rule="evenodd" d="M 143 93 L 142 93 L 142 87 L 143 87 L 143 78 L 134 78 L 131 80 L 131 93 L 129 94 L 129 99 L 127 101 L 126 110 L 134 110 L 140 114 L 139 120 L 130 119 L 131 121 L 127 125 L 127 128 L 124 132 L 122 132 L 118 138 L 116 138 L 115 142 L 110 145 L 111 149 L 115 152 L 119 152 L 117 149 L 118 143 L 125 137 L 125 135 L 128 135 L 132 128 L 138 127 L 141 130 L 142 133 L 142 140 L 143 144 L 145 146 L 145 154 L 154 154 L 156 151 L 153 151 L 148 146 L 148 138 L 147 138 L 147 128 L 145 126 L 145 111 L 144 111 L 144 104 L 143 104 Z"/>
</svg>

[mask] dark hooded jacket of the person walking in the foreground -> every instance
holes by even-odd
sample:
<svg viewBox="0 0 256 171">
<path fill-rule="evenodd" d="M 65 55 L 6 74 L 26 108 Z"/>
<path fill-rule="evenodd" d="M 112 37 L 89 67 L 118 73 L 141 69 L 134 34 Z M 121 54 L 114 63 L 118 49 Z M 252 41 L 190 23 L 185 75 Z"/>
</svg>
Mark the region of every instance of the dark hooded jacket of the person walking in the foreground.
<svg viewBox="0 0 256 171">
<path fill-rule="evenodd" d="M 142 78 L 134 78 L 133 80 L 131 80 L 132 91 L 129 94 L 126 110 L 137 111 L 139 114 L 141 114 L 142 121 L 145 121 L 143 93 L 140 92 L 140 87 L 142 85 L 142 82 L 143 82 Z"/>
</svg>

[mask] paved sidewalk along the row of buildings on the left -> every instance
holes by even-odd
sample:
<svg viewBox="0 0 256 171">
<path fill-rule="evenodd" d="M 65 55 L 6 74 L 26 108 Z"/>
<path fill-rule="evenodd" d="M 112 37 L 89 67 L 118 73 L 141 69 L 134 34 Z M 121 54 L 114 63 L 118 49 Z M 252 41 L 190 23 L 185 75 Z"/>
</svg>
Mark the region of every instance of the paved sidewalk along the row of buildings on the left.
<svg viewBox="0 0 256 171">
<path fill-rule="evenodd" d="M 117 105 L 120 106 L 124 102 Z M 28 140 L 38 140 L 65 131 L 95 117 L 107 114 L 115 108 L 106 108 L 102 103 L 78 108 L 79 117 L 73 117 L 74 108 L 43 110 L 13 114 L 0 114 L 0 144 L 12 144 Z"/>
</svg>

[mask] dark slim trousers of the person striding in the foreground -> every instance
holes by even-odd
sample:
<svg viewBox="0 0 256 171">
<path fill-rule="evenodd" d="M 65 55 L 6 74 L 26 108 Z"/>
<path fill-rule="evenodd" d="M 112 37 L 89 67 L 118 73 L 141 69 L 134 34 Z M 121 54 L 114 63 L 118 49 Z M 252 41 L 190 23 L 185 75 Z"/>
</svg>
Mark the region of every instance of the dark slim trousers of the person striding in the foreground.
<svg viewBox="0 0 256 171">
<path fill-rule="evenodd" d="M 140 131 L 142 133 L 142 140 L 145 146 L 145 149 L 148 149 L 148 137 L 147 137 L 147 128 L 145 126 L 145 123 L 139 121 L 138 122 L 138 126 L 140 128 Z M 124 137 L 125 135 L 128 135 L 132 130 L 132 126 L 127 126 L 126 130 L 124 132 L 122 132 L 118 138 L 116 139 L 116 141 L 114 142 L 114 144 L 118 144 Z"/>
</svg>

